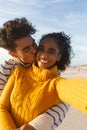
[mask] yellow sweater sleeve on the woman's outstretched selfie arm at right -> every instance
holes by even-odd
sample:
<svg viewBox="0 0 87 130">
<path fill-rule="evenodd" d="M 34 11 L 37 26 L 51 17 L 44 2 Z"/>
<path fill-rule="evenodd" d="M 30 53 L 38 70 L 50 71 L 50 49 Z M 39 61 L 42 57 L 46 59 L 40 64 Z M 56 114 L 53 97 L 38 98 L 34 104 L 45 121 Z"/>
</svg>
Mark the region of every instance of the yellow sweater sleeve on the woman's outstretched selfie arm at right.
<svg viewBox="0 0 87 130">
<path fill-rule="evenodd" d="M 59 98 L 87 114 L 87 79 L 62 79 L 56 85 Z"/>
</svg>

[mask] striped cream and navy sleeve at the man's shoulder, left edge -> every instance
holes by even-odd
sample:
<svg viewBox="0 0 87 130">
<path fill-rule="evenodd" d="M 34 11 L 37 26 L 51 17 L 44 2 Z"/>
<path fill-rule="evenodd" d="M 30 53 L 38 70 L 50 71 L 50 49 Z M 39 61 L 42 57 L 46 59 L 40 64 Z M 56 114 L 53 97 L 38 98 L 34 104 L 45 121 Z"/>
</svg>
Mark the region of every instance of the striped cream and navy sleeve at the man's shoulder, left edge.
<svg viewBox="0 0 87 130">
<path fill-rule="evenodd" d="M 0 95 L 12 70 L 15 68 L 16 65 L 17 63 L 14 59 L 9 59 L 8 61 L 4 61 L 3 64 L 0 64 Z"/>
</svg>

